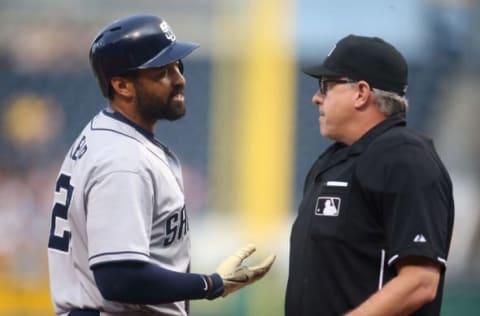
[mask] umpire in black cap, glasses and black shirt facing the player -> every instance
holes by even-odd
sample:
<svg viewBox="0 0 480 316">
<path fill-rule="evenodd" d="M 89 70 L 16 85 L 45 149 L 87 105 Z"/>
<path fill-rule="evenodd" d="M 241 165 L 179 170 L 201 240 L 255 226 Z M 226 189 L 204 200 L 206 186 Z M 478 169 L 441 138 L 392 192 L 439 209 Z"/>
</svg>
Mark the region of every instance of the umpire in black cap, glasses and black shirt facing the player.
<svg viewBox="0 0 480 316">
<path fill-rule="evenodd" d="M 406 127 L 404 57 L 349 35 L 304 72 L 318 79 L 312 102 L 335 143 L 305 180 L 286 316 L 439 315 L 452 183 L 432 141 Z"/>
</svg>

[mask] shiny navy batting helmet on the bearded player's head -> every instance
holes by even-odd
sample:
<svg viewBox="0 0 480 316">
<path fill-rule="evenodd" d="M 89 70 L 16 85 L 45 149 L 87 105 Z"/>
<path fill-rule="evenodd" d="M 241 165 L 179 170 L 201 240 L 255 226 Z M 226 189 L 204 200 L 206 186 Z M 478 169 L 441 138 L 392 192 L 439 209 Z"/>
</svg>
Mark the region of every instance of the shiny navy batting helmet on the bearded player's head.
<svg viewBox="0 0 480 316">
<path fill-rule="evenodd" d="M 112 77 L 168 65 L 198 46 L 177 42 L 170 26 L 160 17 L 133 15 L 110 23 L 97 34 L 90 47 L 90 64 L 103 95 L 108 97 Z"/>
</svg>

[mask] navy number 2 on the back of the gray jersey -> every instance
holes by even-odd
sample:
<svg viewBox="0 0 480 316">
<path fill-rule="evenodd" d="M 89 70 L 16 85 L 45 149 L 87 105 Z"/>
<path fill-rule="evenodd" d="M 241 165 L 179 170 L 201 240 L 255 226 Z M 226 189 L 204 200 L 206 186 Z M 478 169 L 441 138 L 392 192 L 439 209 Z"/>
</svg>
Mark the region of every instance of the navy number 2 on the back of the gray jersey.
<svg viewBox="0 0 480 316">
<path fill-rule="evenodd" d="M 65 200 L 56 202 L 53 206 L 48 248 L 68 252 L 70 237 L 72 235 L 68 227 L 68 208 L 70 207 L 72 199 L 73 186 L 70 185 L 70 176 L 63 173 L 58 177 L 55 192 L 61 193 L 62 190 L 66 192 Z M 59 224 L 60 221 L 63 221 L 64 226 L 61 231 L 57 231 L 57 224 Z"/>
</svg>

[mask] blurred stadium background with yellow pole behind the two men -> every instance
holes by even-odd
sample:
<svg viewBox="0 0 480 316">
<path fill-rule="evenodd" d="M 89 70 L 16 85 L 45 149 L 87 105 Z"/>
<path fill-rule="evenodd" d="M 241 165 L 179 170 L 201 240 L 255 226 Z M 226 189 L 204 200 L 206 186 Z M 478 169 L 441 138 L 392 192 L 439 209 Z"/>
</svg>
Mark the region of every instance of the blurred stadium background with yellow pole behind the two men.
<svg viewBox="0 0 480 316">
<path fill-rule="evenodd" d="M 192 302 L 193 316 L 283 314 L 290 225 L 328 144 L 310 103 L 316 83 L 299 69 L 349 33 L 383 37 L 410 63 L 409 124 L 434 139 L 455 187 L 442 315 L 480 315 L 478 0 L 0 0 L 0 315 L 53 315 L 53 183 L 106 104 L 90 41 L 133 13 L 160 15 L 178 38 L 201 44 L 185 61 L 186 118 L 157 131 L 183 162 L 193 270 L 213 272 L 250 241 L 257 259 L 277 254 L 262 282 Z"/>
</svg>

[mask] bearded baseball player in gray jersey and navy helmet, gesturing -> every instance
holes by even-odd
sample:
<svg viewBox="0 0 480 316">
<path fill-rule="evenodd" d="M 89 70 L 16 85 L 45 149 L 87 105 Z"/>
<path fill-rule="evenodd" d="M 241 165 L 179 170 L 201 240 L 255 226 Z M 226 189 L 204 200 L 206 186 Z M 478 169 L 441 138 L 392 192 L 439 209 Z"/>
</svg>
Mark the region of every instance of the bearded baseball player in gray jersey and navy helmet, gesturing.
<svg viewBox="0 0 480 316">
<path fill-rule="evenodd" d="M 48 242 L 57 315 L 187 315 L 190 299 L 226 296 L 262 278 L 248 245 L 209 275 L 189 272 L 180 164 L 154 137 L 185 114 L 182 59 L 198 47 L 167 22 L 134 15 L 102 29 L 90 62 L 109 105 L 83 129 L 55 187 Z"/>
</svg>

